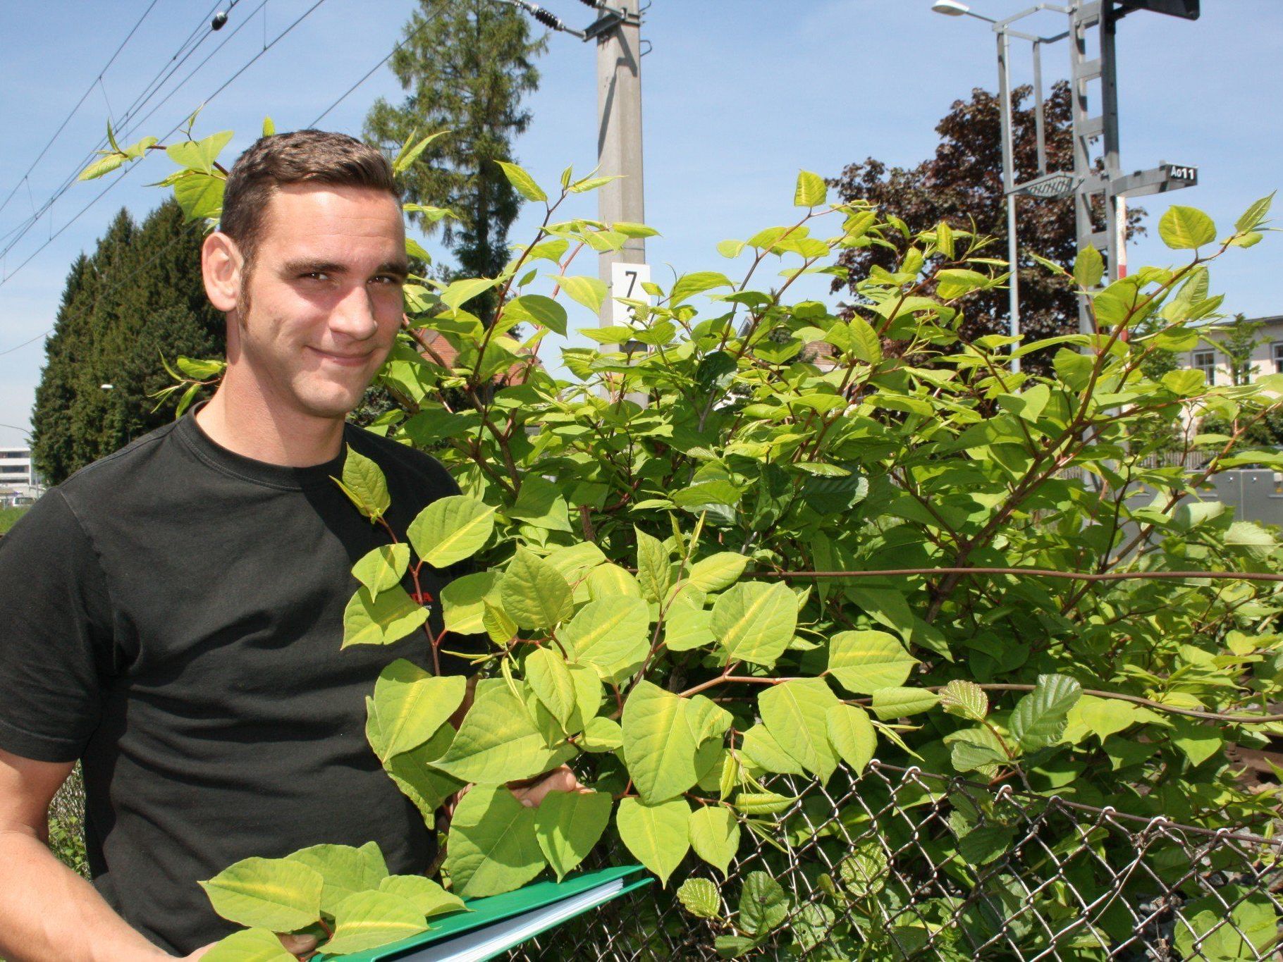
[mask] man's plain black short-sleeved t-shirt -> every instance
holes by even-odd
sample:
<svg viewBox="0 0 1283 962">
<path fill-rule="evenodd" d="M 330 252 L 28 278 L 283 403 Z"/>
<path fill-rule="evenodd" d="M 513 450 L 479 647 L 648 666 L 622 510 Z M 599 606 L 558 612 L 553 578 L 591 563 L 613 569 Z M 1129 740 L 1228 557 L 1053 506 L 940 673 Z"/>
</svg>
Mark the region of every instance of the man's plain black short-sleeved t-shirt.
<svg viewBox="0 0 1283 962">
<path fill-rule="evenodd" d="M 458 493 L 426 454 L 350 425 L 345 443 L 386 473 L 402 540 Z M 389 540 L 330 480 L 341 472 L 341 455 L 244 458 L 187 414 L 80 471 L 0 539 L 0 748 L 82 759 L 94 884 L 169 952 L 239 927 L 196 880 L 241 858 L 371 840 L 394 872 L 432 858 L 364 735 L 380 670 L 430 668 L 429 641 L 340 650 L 352 564 Z M 448 578 L 425 566 L 421 584 L 436 599 Z"/>
</svg>

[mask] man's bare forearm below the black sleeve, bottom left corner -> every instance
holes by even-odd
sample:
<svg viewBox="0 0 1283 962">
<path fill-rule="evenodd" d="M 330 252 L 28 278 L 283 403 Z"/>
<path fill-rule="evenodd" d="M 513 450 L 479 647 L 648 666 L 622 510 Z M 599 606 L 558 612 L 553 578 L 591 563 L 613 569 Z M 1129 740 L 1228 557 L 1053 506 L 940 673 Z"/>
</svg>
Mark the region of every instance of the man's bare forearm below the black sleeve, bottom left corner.
<svg viewBox="0 0 1283 962">
<path fill-rule="evenodd" d="M 173 958 L 49 850 L 49 803 L 73 762 L 0 749 L 0 957 L 9 962 Z"/>
</svg>

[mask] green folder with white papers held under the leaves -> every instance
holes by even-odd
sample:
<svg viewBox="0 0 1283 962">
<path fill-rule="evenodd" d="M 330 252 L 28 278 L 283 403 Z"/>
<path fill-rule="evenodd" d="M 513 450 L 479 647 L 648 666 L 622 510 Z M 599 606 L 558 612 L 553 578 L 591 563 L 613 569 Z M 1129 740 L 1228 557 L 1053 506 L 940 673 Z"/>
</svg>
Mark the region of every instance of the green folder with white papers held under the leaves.
<svg viewBox="0 0 1283 962">
<path fill-rule="evenodd" d="M 471 912 L 429 918 L 432 927 L 426 932 L 348 956 L 317 956 L 317 962 L 482 962 L 567 918 L 649 885 L 649 875 L 629 879 L 640 871 L 639 865 L 618 866 L 470 899 Z"/>
</svg>

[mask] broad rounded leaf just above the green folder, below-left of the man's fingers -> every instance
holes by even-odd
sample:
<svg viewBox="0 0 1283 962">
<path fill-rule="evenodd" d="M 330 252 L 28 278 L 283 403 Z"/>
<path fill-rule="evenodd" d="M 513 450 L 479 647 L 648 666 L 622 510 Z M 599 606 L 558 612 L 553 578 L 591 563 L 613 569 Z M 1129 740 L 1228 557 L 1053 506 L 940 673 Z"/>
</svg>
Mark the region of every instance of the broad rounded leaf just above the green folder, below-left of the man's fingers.
<svg viewBox="0 0 1283 962">
<path fill-rule="evenodd" d="M 535 812 L 503 785 L 477 785 L 450 821 L 450 881 L 462 898 L 512 891 L 539 875 L 544 853 L 535 839 Z"/>
</svg>

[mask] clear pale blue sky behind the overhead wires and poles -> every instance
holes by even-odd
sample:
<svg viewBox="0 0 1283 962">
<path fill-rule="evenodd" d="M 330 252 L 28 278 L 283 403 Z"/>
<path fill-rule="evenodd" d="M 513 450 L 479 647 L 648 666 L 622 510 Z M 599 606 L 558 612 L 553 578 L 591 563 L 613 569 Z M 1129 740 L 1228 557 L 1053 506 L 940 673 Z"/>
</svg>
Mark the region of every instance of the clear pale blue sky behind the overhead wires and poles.
<svg viewBox="0 0 1283 962">
<path fill-rule="evenodd" d="M 0 235 L 9 233 L 77 169 L 101 137 L 109 114 L 121 114 L 194 30 L 204 30 L 212 0 L 157 0 L 117 62 L 99 72 L 150 0 L 46 0 L 0 4 Z M 225 0 L 227 6 L 231 0 Z M 135 133 L 163 135 L 263 50 L 316 0 L 239 0 L 227 26 L 209 35 L 159 87 L 140 114 L 173 96 Z M 576 0 L 544 0 L 572 26 L 590 12 Z M 1010 15 L 1029 3 L 974 0 L 978 13 Z M 263 114 L 277 130 L 310 123 L 375 65 L 399 38 L 413 0 L 323 0 L 290 33 L 262 54 L 207 106 L 196 132 L 234 130 L 234 156 L 257 136 Z M 223 42 L 183 86 L 180 80 Z M 1064 18 L 1042 13 L 1028 22 L 1044 35 Z M 648 245 L 657 280 L 668 267 L 725 269 L 713 246 L 726 237 L 783 223 L 792 213 L 799 168 L 835 176 L 866 156 L 910 165 L 935 148 L 935 123 L 974 86 L 994 87 L 993 35 L 971 18 L 930 12 L 929 0 L 654 0 L 643 36 L 647 221 L 661 237 Z M 1171 263 L 1157 240 L 1159 215 L 1171 203 L 1207 210 L 1221 227 L 1256 198 L 1283 186 L 1283 74 L 1268 51 L 1283 50 L 1278 0 L 1203 0 L 1197 22 L 1138 13 L 1120 24 L 1119 87 L 1124 169 L 1160 160 L 1194 164 L 1200 186 L 1146 198 L 1150 237 L 1134 244 L 1129 262 Z M 1047 82 L 1067 73 L 1065 44 L 1044 51 Z M 516 144 L 517 160 L 536 178 L 556 183 L 568 163 L 595 164 L 595 54 L 590 44 L 554 35 L 539 63 L 543 82 L 529 99 L 530 130 Z M 1028 77 L 1021 51 L 1016 81 Z M 77 100 L 94 85 L 65 130 L 31 176 L 23 174 Z M 359 133 L 378 95 L 396 97 L 390 72 L 376 72 L 322 127 Z M 154 156 L 68 226 L 108 181 L 74 185 L 4 258 L 0 277 L 0 445 L 21 444 L 44 364 L 40 335 L 54 319 L 68 266 L 92 250 L 106 222 L 127 205 L 136 215 L 159 200 L 148 182 L 166 160 Z M 28 194 L 30 190 L 30 194 Z M 1280 204 L 1283 207 L 1283 204 Z M 595 215 L 584 199 L 576 214 Z M 526 239 L 538 221 L 530 208 L 513 230 Z M 22 269 L 18 264 L 47 244 Z M 0 240 L 0 248 L 12 237 Z M 429 249 L 436 246 L 430 244 Z M 585 263 L 584 272 L 594 266 Z M 1247 251 L 1232 251 L 1212 272 L 1225 308 L 1250 316 L 1283 313 L 1283 237 L 1268 235 Z M 801 285 L 794 286 L 798 290 Z M 822 282 L 802 287 L 829 299 Z M 572 305 L 574 307 L 574 305 Z M 580 326 L 594 321 L 586 312 Z M 572 318 L 572 326 L 575 319 Z M 17 345 L 37 339 L 26 346 Z M 14 348 L 17 348 L 14 350 Z M 12 427 L 12 426 L 17 426 Z"/>
</svg>

